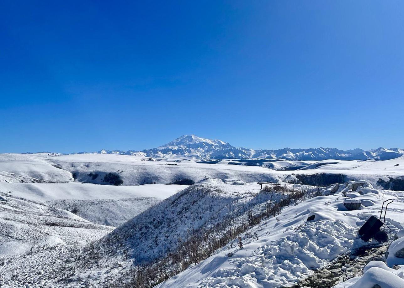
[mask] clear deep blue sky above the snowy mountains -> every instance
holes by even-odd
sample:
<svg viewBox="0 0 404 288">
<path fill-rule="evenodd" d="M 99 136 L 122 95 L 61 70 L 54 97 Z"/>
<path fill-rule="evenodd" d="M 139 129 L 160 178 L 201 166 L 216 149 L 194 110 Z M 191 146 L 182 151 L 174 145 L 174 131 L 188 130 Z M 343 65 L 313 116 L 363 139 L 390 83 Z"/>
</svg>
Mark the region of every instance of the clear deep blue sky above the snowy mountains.
<svg viewBox="0 0 404 288">
<path fill-rule="evenodd" d="M 0 152 L 404 148 L 403 1 L 3 1 Z"/>
</svg>

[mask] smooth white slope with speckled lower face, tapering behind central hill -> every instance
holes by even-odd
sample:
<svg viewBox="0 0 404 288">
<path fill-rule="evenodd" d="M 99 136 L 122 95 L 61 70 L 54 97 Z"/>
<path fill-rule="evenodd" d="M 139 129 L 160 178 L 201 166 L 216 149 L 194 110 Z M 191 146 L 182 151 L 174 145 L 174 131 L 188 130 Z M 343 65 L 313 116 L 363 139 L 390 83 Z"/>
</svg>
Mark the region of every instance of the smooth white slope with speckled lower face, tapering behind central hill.
<svg viewBox="0 0 404 288">
<path fill-rule="evenodd" d="M 159 184 L 0 183 L 0 192 L 72 211 L 93 223 L 117 227 L 186 187 Z"/>
</svg>

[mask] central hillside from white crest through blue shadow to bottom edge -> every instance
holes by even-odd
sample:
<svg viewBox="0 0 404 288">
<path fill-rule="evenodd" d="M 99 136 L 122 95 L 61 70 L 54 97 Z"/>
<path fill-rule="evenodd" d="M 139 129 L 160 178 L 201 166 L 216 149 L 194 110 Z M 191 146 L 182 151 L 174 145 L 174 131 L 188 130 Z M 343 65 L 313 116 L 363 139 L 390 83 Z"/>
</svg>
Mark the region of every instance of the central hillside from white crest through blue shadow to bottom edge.
<svg viewBox="0 0 404 288">
<path fill-rule="evenodd" d="M 124 268 L 120 268 L 119 273 L 127 277 L 130 274 L 126 273 L 136 265 L 174 251 L 193 231 L 224 223 L 232 213 L 236 213 L 237 221 L 242 222 L 242 215 L 248 209 L 278 195 L 256 198 L 257 194 L 259 190 L 255 183 L 207 179 L 194 184 L 103 238 L 95 246 L 102 257 L 96 262 L 84 259 L 92 268 L 78 271 L 78 275 L 87 275 L 92 280 L 91 285 L 98 287 L 109 275 L 117 273 L 116 269 L 111 269 L 114 263 L 122 263 Z M 252 199 L 256 201 L 251 202 Z M 96 276 L 99 273 L 101 278 Z M 74 285 L 78 285 L 80 279 L 73 279 Z"/>
</svg>

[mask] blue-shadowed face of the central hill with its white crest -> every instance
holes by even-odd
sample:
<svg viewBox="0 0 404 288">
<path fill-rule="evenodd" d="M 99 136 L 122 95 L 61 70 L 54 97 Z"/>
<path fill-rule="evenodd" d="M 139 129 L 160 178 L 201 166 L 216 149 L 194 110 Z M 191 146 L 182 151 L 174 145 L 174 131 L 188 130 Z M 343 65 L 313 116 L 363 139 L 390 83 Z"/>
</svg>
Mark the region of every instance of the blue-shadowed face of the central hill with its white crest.
<svg viewBox="0 0 404 288">
<path fill-rule="evenodd" d="M 248 202 L 257 189 L 254 184 L 208 179 L 167 198 L 134 219 L 126 222 L 105 240 L 124 242 L 138 261 L 152 261 L 175 248 L 179 238 L 193 229 L 214 225 L 230 211 L 232 205 Z M 257 191 L 255 192 L 255 194 Z"/>
</svg>

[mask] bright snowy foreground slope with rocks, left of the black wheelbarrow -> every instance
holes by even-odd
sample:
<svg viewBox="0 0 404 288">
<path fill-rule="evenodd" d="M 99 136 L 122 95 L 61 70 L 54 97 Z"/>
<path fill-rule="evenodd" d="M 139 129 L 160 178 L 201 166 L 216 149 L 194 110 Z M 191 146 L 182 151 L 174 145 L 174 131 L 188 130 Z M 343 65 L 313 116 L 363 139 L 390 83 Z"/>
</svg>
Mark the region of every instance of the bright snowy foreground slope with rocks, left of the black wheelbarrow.
<svg viewBox="0 0 404 288">
<path fill-rule="evenodd" d="M 379 214 L 385 198 L 396 200 L 387 215 L 387 225 L 393 232 L 402 229 L 403 192 L 379 193 L 351 195 L 363 203 L 356 211 L 347 211 L 343 206 L 343 201 L 350 198 L 342 193 L 318 196 L 284 208 L 278 217 L 262 221 L 242 236 L 242 249 L 235 247 L 236 241 L 229 243 L 216 255 L 156 287 L 290 287 L 311 275 L 312 269 L 328 265 L 338 255 L 363 245 L 377 244 L 375 240 L 363 242 L 357 234 L 370 215 Z M 310 216 L 314 219 L 308 220 Z M 257 236 L 249 238 L 248 235 L 255 232 Z M 392 237 L 393 233 L 390 239 Z"/>
</svg>

